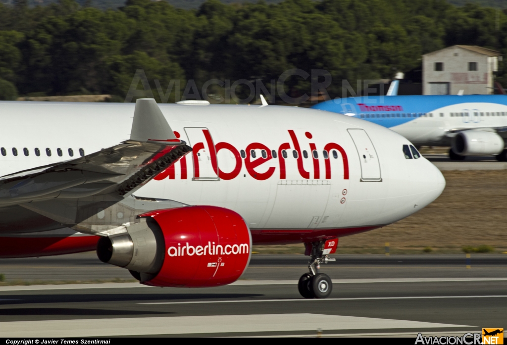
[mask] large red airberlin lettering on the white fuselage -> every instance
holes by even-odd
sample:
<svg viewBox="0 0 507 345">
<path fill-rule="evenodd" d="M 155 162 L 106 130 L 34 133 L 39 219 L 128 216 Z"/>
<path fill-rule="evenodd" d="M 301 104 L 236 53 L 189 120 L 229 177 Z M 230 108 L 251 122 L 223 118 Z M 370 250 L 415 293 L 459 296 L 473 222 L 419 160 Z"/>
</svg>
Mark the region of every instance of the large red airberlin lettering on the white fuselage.
<svg viewBox="0 0 507 345">
<path fill-rule="evenodd" d="M 211 135 L 210 135 L 209 131 L 207 129 L 203 129 L 202 132 L 203 132 L 204 137 L 206 139 L 207 147 L 210 147 L 210 148 L 213 147 L 213 140 L 211 139 Z M 174 134 L 176 135 L 176 138 L 180 137 L 178 132 L 174 132 Z M 302 155 L 301 147 L 299 145 L 298 138 L 296 137 L 296 134 L 294 133 L 293 130 L 288 130 L 288 134 L 291 137 L 292 145 L 291 145 L 291 143 L 285 142 L 285 143 L 281 144 L 277 150 L 278 165 L 279 165 L 279 170 L 280 170 L 280 179 L 283 180 L 286 178 L 285 158 L 283 158 L 283 150 L 289 150 L 291 148 L 296 150 L 297 154 L 298 154 L 297 161 L 298 161 L 299 174 L 301 175 L 301 177 L 303 177 L 305 179 L 310 179 L 310 172 L 306 171 L 303 166 L 303 155 Z M 308 139 L 312 138 L 312 134 L 310 132 L 306 132 L 305 135 Z M 317 151 L 316 145 L 314 143 L 310 143 L 309 145 L 310 145 L 310 156 L 311 156 L 311 159 L 313 160 L 313 178 L 320 179 L 319 162 L 318 162 L 318 158 L 317 159 L 315 158 L 315 156 L 318 157 L 318 151 Z M 199 178 L 199 176 L 200 176 L 199 160 L 198 160 L 197 154 L 198 154 L 199 150 L 204 149 L 204 148 L 205 148 L 205 145 L 203 142 L 198 142 L 192 147 L 192 150 L 193 150 L 192 156 L 193 156 L 193 161 L 194 161 L 194 177 L 195 178 Z M 232 180 L 232 179 L 236 178 L 239 175 L 239 173 L 241 171 L 242 164 L 243 164 L 243 160 L 241 159 L 241 155 L 239 154 L 239 150 L 227 142 L 219 142 L 214 145 L 214 148 L 215 148 L 214 150 L 210 149 L 211 166 L 212 166 L 214 172 L 216 174 L 218 174 L 219 178 L 221 178 L 223 180 Z M 222 149 L 229 150 L 233 154 L 234 158 L 236 159 L 236 165 L 235 165 L 234 169 L 229 173 L 223 172 L 222 170 L 220 170 L 220 167 L 218 167 L 216 155 Z M 261 156 L 255 160 L 251 160 L 250 152 L 251 152 L 251 150 L 256 150 L 256 149 L 265 150 L 266 154 L 267 154 L 266 158 Z M 326 144 L 324 146 L 324 150 L 328 152 L 328 158 L 324 158 L 325 179 L 327 179 L 327 180 L 331 179 L 331 162 L 330 162 L 331 155 L 330 155 L 330 152 L 332 152 L 332 150 L 337 150 L 340 152 L 340 155 L 342 156 L 343 179 L 348 180 L 349 167 L 348 167 L 347 154 L 346 154 L 345 150 L 340 145 L 338 145 L 337 143 L 334 143 L 334 142 L 330 142 L 330 143 Z M 255 170 L 257 167 L 259 167 L 260 165 L 266 163 L 267 161 L 269 161 L 273 158 L 269 147 L 267 147 L 266 145 L 259 143 L 259 142 L 253 142 L 253 143 L 248 144 L 246 146 L 245 151 L 246 151 L 245 152 L 246 157 L 244 158 L 244 164 L 245 164 L 246 171 L 248 172 L 248 174 L 251 177 L 255 178 L 256 180 L 267 180 L 268 178 L 273 176 L 273 174 L 275 173 L 275 170 L 276 170 L 275 167 L 270 167 L 264 173 L 260 173 Z M 316 152 L 316 155 L 314 155 L 314 151 Z M 180 163 L 180 168 L 181 168 L 181 179 L 186 180 L 188 178 L 187 158 L 186 157 L 181 158 L 179 160 L 179 163 Z M 160 181 L 160 180 L 163 180 L 167 177 L 169 177 L 169 179 L 175 179 L 174 165 L 170 166 L 169 168 L 167 168 L 166 170 L 164 170 L 163 172 L 158 174 L 155 177 L 155 179 Z"/>
</svg>

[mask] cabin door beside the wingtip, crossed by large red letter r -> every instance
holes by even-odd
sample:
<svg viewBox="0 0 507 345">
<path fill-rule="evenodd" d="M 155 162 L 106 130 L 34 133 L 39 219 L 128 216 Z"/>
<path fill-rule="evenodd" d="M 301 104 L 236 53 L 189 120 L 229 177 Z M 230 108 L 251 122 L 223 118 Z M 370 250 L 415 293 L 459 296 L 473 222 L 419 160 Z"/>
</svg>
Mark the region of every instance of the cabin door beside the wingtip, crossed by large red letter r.
<svg viewBox="0 0 507 345">
<path fill-rule="evenodd" d="M 185 133 L 193 149 L 194 177 L 192 180 L 218 181 L 218 160 L 209 130 L 205 127 L 185 127 Z"/>
</svg>

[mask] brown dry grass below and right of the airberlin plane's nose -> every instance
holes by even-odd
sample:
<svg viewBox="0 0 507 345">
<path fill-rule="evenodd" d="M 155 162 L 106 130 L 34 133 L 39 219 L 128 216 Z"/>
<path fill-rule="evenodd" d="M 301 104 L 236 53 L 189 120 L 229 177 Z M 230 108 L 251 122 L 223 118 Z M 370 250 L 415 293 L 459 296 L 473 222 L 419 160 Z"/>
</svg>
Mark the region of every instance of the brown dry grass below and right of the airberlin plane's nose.
<svg viewBox="0 0 507 345">
<path fill-rule="evenodd" d="M 395 224 L 340 239 L 341 253 L 460 253 L 466 246 L 507 250 L 507 171 L 444 171 L 444 193 Z M 276 248 L 278 247 L 278 248 Z M 261 253 L 303 253 L 302 245 L 258 246 Z M 427 250 L 426 250 L 427 251 Z"/>
</svg>

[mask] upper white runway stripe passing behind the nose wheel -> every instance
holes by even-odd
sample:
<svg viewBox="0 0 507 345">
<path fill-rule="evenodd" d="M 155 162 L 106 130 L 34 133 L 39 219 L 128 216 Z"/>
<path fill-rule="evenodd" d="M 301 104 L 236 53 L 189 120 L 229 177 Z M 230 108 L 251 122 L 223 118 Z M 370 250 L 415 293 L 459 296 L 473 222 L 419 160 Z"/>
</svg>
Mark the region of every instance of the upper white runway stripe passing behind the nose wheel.
<svg viewBox="0 0 507 345">
<path fill-rule="evenodd" d="M 378 278 L 378 279 L 333 279 L 333 284 L 363 283 L 431 283 L 431 282 L 491 282 L 507 281 L 507 278 Z M 294 285 L 297 280 L 238 280 L 230 285 Z M 153 288 L 139 283 L 101 283 L 101 284 L 62 284 L 62 285 L 16 285 L 2 286 L 2 291 L 34 290 L 75 290 L 75 289 L 110 289 L 110 288 Z"/>
</svg>

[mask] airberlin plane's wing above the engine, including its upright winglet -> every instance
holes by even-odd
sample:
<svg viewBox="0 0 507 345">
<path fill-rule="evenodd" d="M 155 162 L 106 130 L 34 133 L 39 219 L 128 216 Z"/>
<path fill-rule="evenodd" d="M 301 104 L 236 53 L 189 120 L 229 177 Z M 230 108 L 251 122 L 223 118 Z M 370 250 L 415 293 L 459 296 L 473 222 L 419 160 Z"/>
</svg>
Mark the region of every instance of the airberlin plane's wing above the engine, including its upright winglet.
<svg viewBox="0 0 507 345">
<path fill-rule="evenodd" d="M 0 177 L 0 207 L 97 195 L 122 200 L 191 150 L 176 139 L 154 99 L 138 99 L 129 140 Z"/>
</svg>

